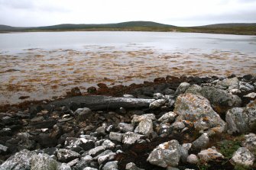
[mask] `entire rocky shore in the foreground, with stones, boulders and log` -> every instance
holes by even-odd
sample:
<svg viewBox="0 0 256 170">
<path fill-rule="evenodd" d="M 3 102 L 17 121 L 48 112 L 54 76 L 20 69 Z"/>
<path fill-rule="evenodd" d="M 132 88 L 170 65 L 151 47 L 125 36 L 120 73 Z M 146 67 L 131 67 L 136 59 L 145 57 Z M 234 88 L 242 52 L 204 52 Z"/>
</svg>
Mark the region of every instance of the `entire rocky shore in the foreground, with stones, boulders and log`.
<svg viewBox="0 0 256 170">
<path fill-rule="evenodd" d="M 98 86 L 2 107 L 0 170 L 256 169 L 255 75 Z"/>
</svg>

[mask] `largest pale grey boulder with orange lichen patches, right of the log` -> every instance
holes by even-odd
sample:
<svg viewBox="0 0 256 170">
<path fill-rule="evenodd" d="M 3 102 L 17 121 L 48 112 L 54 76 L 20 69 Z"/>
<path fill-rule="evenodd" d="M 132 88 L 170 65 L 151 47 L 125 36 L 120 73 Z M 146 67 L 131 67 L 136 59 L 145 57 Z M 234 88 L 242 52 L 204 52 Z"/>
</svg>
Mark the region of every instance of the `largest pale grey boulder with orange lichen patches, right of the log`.
<svg viewBox="0 0 256 170">
<path fill-rule="evenodd" d="M 220 133 L 225 131 L 225 121 L 212 110 L 209 101 L 203 96 L 190 93 L 180 95 L 173 112 L 179 115 L 177 121 L 188 120 L 198 130 L 214 128 Z"/>
</svg>

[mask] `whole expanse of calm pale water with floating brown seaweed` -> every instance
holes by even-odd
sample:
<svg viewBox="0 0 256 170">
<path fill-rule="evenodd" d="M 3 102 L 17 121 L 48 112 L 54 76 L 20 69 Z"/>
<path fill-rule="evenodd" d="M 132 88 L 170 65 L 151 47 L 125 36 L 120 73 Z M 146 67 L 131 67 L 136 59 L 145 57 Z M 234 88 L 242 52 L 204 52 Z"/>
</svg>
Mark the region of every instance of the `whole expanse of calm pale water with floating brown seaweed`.
<svg viewBox="0 0 256 170">
<path fill-rule="evenodd" d="M 256 74 L 256 37 L 173 32 L 0 34 L 0 102 L 166 75 Z"/>
</svg>

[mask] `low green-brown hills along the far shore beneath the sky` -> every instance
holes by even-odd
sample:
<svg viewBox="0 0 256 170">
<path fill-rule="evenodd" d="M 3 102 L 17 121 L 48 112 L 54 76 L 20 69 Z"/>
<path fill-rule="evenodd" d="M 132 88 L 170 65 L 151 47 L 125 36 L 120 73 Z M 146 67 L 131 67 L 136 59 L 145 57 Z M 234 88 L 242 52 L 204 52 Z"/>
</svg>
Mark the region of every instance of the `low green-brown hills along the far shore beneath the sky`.
<svg viewBox="0 0 256 170">
<path fill-rule="evenodd" d="M 159 31 L 196 32 L 213 34 L 256 35 L 256 24 L 212 24 L 201 27 L 176 27 L 150 21 L 131 21 L 118 24 L 58 24 L 47 27 L 10 27 L 0 25 L 0 33 L 14 31 Z"/>
</svg>

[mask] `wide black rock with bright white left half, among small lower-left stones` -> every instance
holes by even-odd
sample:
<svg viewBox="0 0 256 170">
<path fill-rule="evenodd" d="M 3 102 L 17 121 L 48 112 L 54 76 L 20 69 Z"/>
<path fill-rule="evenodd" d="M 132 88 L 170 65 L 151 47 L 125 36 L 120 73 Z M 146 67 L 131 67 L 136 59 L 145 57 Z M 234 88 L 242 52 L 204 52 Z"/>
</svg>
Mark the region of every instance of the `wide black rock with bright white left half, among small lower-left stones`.
<svg viewBox="0 0 256 170">
<path fill-rule="evenodd" d="M 67 149 L 72 149 L 80 147 L 87 151 L 95 147 L 95 143 L 92 140 L 86 140 L 83 138 L 67 137 L 65 141 L 65 146 Z"/>
</svg>

